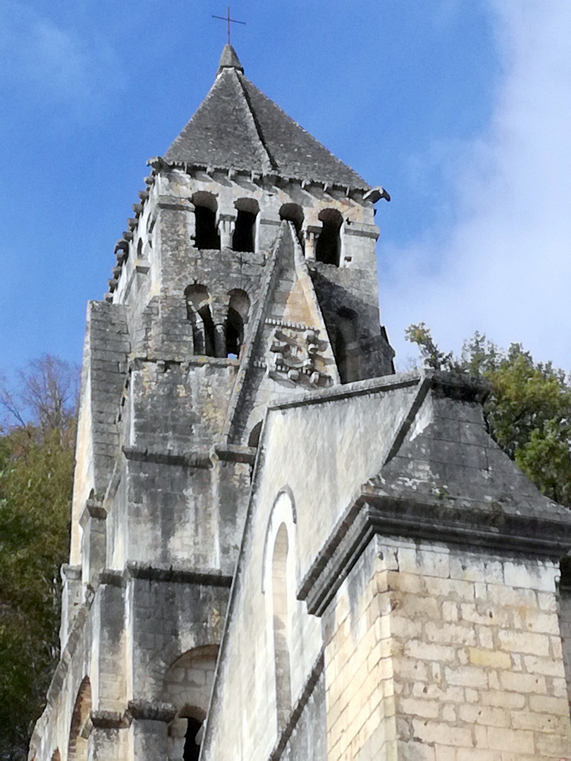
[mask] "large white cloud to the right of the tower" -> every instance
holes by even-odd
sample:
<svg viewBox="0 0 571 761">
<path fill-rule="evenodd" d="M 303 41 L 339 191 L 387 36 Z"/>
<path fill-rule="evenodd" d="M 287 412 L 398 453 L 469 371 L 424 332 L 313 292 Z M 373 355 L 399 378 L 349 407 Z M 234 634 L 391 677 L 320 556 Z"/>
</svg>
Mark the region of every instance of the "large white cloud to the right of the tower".
<svg viewBox="0 0 571 761">
<path fill-rule="evenodd" d="M 385 247 L 381 308 L 401 360 L 423 320 L 442 349 L 474 330 L 571 370 L 571 3 L 488 0 L 502 62 L 492 123 L 453 154 L 454 213 L 406 250 Z M 438 197 L 438 196 L 437 196 Z"/>
</svg>

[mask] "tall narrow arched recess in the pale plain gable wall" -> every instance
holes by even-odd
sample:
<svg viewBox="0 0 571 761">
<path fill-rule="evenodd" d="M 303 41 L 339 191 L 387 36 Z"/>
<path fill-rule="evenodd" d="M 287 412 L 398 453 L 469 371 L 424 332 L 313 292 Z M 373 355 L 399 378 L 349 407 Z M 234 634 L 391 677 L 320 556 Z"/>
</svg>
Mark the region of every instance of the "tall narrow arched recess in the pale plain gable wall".
<svg viewBox="0 0 571 761">
<path fill-rule="evenodd" d="M 272 557 L 273 648 L 276 665 L 276 709 L 282 730 L 292 710 L 292 679 L 289 660 L 289 604 L 287 586 L 288 530 L 282 523 Z"/>
</svg>

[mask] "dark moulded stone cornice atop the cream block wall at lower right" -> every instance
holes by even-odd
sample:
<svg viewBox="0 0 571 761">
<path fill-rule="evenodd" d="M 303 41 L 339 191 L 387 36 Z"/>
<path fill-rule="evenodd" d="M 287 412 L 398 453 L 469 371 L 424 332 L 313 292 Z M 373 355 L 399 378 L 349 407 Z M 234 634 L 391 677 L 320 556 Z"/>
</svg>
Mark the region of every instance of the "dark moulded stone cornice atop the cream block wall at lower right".
<svg viewBox="0 0 571 761">
<path fill-rule="evenodd" d="M 297 597 L 307 602 L 309 613 L 324 613 L 375 534 L 528 558 L 560 559 L 571 549 L 571 521 L 558 517 L 364 492 L 346 511 L 301 581 Z"/>
</svg>

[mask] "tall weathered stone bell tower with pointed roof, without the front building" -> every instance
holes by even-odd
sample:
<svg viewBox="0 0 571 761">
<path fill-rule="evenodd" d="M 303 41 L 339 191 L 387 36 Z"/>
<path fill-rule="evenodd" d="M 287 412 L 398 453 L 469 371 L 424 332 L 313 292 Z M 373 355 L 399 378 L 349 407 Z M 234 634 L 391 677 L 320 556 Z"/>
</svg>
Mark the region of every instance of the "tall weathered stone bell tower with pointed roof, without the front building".
<svg viewBox="0 0 571 761">
<path fill-rule="evenodd" d="M 197 758 L 268 405 L 393 372 L 388 195 L 230 45 L 148 164 L 88 305 L 62 659 L 30 759 Z"/>
</svg>

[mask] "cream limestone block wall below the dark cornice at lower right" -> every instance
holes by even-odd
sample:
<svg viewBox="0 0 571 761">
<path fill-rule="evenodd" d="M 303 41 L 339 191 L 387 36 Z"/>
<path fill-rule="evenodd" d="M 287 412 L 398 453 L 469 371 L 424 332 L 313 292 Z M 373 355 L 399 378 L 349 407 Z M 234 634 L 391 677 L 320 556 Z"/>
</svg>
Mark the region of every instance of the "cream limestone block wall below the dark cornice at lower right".
<svg viewBox="0 0 571 761">
<path fill-rule="evenodd" d="M 330 761 L 568 757 L 557 573 L 375 539 L 328 614 Z"/>
</svg>

